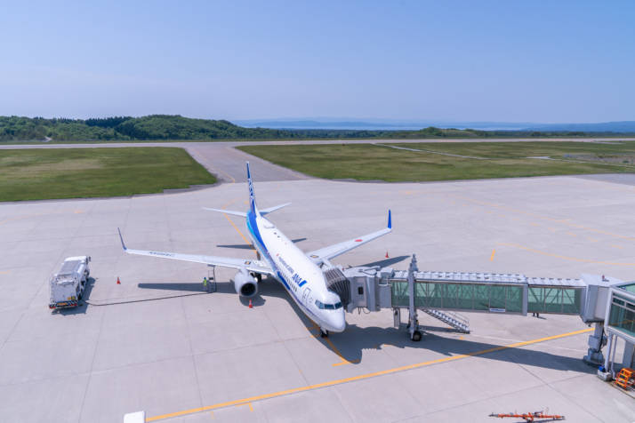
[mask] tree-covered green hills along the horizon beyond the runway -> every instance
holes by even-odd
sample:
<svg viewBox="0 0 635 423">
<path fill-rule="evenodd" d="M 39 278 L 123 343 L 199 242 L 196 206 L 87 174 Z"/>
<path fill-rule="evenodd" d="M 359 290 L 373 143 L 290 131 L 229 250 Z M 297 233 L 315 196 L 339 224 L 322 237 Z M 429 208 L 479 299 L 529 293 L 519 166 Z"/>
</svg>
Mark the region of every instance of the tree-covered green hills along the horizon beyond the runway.
<svg viewBox="0 0 635 423">
<path fill-rule="evenodd" d="M 0 142 L 101 140 L 307 140 L 307 139 L 445 139 L 615 136 L 611 132 L 523 132 L 425 128 L 419 131 L 365 131 L 245 128 L 226 120 L 183 116 L 115 116 L 65 119 L 0 116 Z M 620 134 L 625 135 L 625 134 Z"/>
</svg>

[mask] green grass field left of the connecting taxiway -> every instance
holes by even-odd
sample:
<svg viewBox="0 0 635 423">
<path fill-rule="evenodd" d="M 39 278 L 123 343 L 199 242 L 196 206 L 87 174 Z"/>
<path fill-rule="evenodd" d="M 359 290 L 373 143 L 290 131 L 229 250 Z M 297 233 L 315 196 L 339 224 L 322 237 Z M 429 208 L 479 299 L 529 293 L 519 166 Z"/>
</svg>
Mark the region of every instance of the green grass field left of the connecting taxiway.
<svg viewBox="0 0 635 423">
<path fill-rule="evenodd" d="M 131 196 L 215 181 L 182 148 L 0 150 L 0 201 Z"/>
</svg>

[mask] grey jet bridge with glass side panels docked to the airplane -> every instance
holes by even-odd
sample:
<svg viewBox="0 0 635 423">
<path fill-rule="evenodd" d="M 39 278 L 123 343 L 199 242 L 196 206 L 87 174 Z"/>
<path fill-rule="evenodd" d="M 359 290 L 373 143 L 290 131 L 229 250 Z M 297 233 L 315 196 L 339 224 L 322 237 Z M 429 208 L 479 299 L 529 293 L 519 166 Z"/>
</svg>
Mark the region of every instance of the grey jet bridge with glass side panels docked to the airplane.
<svg viewBox="0 0 635 423">
<path fill-rule="evenodd" d="M 392 308 L 395 327 L 405 327 L 415 341 L 422 339 L 418 311 L 465 333 L 470 332 L 470 321 L 458 312 L 580 315 L 584 323 L 595 323 L 584 356 L 584 361 L 592 364 L 605 362 L 601 348 L 607 344 L 604 322 L 614 293 L 611 289 L 623 283 L 604 275 L 563 279 L 521 274 L 419 271 L 414 255 L 408 270 L 350 267 L 332 273 L 337 282 L 330 283 L 329 286 L 334 287 L 330 289 L 338 293 L 347 291 L 341 298 L 348 312 L 360 307 L 370 312 Z M 342 277 L 347 281 L 342 281 Z M 615 304 L 620 305 L 619 301 Z M 401 322 L 402 310 L 408 312 L 407 323 Z"/>
</svg>

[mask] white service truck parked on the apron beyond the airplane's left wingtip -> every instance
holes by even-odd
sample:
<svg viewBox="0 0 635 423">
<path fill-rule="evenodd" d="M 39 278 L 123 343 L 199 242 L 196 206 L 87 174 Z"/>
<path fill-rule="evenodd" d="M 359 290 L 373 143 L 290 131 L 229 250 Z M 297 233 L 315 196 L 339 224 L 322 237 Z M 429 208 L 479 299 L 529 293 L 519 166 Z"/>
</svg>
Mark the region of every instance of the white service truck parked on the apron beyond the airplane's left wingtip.
<svg viewBox="0 0 635 423">
<path fill-rule="evenodd" d="M 64 307 L 76 307 L 82 295 L 88 275 L 89 256 L 68 257 L 61 264 L 60 270 L 51 276 L 51 300 L 49 308 L 52 310 Z"/>
</svg>

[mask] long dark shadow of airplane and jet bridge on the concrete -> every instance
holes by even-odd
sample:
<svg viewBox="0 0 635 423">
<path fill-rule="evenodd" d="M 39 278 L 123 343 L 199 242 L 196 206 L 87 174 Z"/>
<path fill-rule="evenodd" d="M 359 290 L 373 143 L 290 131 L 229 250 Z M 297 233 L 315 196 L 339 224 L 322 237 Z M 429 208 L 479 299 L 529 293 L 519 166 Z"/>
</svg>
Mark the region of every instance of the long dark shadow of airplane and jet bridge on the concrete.
<svg viewBox="0 0 635 423">
<path fill-rule="evenodd" d="M 202 283 L 140 283 L 139 286 L 145 289 L 166 290 L 177 290 L 181 289 L 180 287 L 182 286 L 185 291 L 202 291 Z M 217 282 L 216 292 L 236 294 L 234 285 L 231 282 Z M 293 299 L 289 297 L 282 285 L 271 277 L 262 279 L 262 283 L 259 284 L 258 294 L 252 298 L 252 306 L 263 306 L 267 302 L 268 297 L 285 299 L 312 336 L 316 337 L 324 347 L 331 350 L 338 358 L 342 357 L 353 365 L 362 362 L 365 350 L 370 351 L 383 349 L 385 347 L 397 347 L 402 349 L 414 348 L 428 350 L 445 356 L 478 355 L 488 360 L 527 364 L 560 371 L 594 372 L 594 370 L 584 364 L 580 358 L 555 355 L 518 347 L 500 348 L 495 351 L 478 354 L 479 352 L 499 348 L 501 345 L 478 342 L 470 339 L 453 339 L 439 336 L 437 334 L 439 332 L 454 332 L 453 329 L 443 326 L 422 326 L 425 333 L 423 339 L 419 342 L 411 341 L 403 329 L 395 329 L 393 327 L 362 328 L 353 323 L 349 323 L 346 330 L 342 333 L 331 333 L 328 340 L 321 339 L 315 324 L 301 312 L 300 308 L 295 304 Z M 248 307 L 249 299 L 238 298 L 243 306 Z"/>
</svg>

